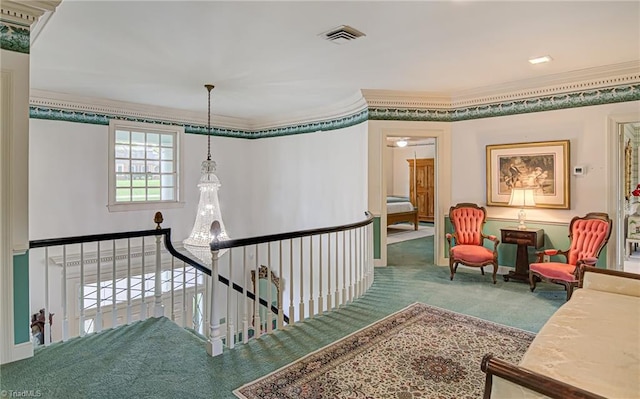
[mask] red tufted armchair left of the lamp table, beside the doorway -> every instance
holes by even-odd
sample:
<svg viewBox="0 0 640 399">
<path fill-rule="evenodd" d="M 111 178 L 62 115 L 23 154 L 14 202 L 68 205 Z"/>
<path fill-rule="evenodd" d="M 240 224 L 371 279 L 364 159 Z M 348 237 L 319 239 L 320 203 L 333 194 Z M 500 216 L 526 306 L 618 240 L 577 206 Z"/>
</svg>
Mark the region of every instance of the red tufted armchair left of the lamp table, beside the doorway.
<svg viewBox="0 0 640 399">
<path fill-rule="evenodd" d="M 464 202 L 449 208 L 449 220 L 453 224 L 453 234 L 447 234 L 449 242 L 449 269 L 451 280 L 458 264 L 476 266 L 484 275 L 484 266 L 493 265 L 493 283 L 498 272 L 498 244 L 496 236 L 485 235 L 482 228 L 487 220 L 484 207 Z M 493 250 L 485 248 L 484 239 L 493 241 Z"/>
</svg>

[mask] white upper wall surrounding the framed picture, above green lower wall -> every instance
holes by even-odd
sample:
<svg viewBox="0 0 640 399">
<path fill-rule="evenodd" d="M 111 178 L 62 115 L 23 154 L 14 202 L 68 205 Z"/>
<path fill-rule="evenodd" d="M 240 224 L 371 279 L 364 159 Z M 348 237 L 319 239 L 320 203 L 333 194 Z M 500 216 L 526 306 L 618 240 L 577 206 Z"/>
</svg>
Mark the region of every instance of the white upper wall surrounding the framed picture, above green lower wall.
<svg viewBox="0 0 640 399">
<path fill-rule="evenodd" d="M 454 123 L 451 203 L 486 204 L 487 145 L 571 140 L 570 166 L 584 166 L 586 174 L 570 176 L 570 209 L 530 209 L 527 220 L 568 222 L 575 215 L 606 212 L 607 193 L 612 189 L 607 118 L 637 112 L 639 106 L 636 101 Z M 489 207 L 487 212 L 489 217 L 515 218 L 514 210 L 508 207 Z"/>
</svg>

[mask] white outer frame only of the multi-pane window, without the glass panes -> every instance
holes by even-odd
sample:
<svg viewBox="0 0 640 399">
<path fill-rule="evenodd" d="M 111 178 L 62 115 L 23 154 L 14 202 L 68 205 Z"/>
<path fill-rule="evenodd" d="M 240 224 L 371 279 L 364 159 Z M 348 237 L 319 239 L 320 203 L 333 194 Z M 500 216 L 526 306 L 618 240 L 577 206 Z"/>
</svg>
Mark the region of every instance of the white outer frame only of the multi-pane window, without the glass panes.
<svg viewBox="0 0 640 399">
<path fill-rule="evenodd" d="M 116 202 L 116 130 L 142 130 L 151 133 L 173 133 L 175 134 L 175 154 L 174 167 L 176 169 L 176 192 L 172 201 L 132 201 Z M 139 210 L 159 210 L 171 208 L 183 208 L 184 201 L 184 168 L 183 168 L 183 142 L 184 127 L 174 125 L 158 125 L 153 123 L 130 122 L 112 119 L 109 121 L 109 202 L 107 208 L 109 212 L 139 211 Z"/>
</svg>

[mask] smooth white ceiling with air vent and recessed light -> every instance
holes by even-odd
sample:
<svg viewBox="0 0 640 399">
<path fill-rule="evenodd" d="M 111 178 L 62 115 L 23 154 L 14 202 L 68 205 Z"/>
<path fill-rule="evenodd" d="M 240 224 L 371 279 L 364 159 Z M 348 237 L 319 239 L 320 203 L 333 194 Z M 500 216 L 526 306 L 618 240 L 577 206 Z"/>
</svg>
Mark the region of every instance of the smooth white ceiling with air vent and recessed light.
<svg viewBox="0 0 640 399">
<path fill-rule="evenodd" d="M 366 37 L 318 36 L 343 24 Z M 200 112 L 212 83 L 214 114 L 263 122 L 637 61 L 640 2 L 63 0 L 30 60 L 33 89 Z"/>
</svg>

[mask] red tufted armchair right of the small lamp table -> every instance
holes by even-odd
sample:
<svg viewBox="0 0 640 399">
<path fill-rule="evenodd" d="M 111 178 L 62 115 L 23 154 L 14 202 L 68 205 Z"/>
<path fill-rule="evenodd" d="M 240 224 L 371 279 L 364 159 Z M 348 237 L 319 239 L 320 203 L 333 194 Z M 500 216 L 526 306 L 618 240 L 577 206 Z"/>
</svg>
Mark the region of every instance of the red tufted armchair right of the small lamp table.
<svg viewBox="0 0 640 399">
<path fill-rule="evenodd" d="M 529 265 L 529 284 L 531 292 L 537 281 L 562 284 L 567 290 L 567 301 L 574 287 L 580 281 L 580 265 L 594 266 L 602 248 L 607 245 L 611 235 L 611 219 L 601 212 L 587 213 L 584 217 L 574 217 L 569 224 L 570 246 L 566 251 L 545 249 L 537 253 L 537 263 Z M 563 255 L 565 263 L 546 262 L 544 256 Z"/>
</svg>

